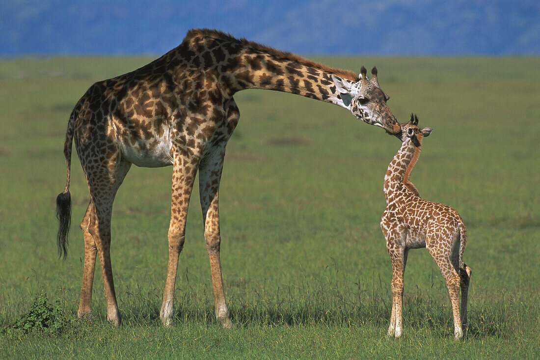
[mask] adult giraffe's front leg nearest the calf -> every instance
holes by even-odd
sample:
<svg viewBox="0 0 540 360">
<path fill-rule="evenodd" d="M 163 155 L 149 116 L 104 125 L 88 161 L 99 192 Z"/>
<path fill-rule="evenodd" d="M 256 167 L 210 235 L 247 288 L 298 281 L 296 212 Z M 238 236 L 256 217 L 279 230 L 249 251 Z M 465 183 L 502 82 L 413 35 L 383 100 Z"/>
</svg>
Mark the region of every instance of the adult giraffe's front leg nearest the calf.
<svg viewBox="0 0 540 360">
<path fill-rule="evenodd" d="M 225 146 L 213 150 L 202 161 L 199 168 L 199 192 L 203 221 L 205 225 L 204 236 L 210 271 L 212 274 L 212 287 L 214 290 L 215 317 L 226 329 L 232 328 L 229 311 L 225 299 L 223 278 L 221 275 L 221 261 L 219 256 L 221 236 L 219 231 L 218 192 L 225 157 Z"/>
</svg>

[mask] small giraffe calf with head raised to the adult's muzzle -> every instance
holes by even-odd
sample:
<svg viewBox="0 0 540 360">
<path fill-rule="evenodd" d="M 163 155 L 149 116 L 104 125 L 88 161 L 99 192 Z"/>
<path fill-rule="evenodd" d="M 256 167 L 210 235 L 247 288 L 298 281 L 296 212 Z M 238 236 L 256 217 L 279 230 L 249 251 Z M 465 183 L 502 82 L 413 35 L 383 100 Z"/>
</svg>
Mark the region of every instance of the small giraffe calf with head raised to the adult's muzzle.
<svg viewBox="0 0 540 360">
<path fill-rule="evenodd" d="M 457 211 L 448 205 L 422 199 L 409 176 L 420 155 L 422 138 L 431 128 L 420 129 L 418 118 L 411 115 L 401 124 L 402 141 L 384 176 L 386 210 L 381 229 L 392 261 L 392 314 L 388 335 L 402 333 L 403 274 L 409 249 L 427 248 L 446 280 L 454 314 L 455 339 L 463 337 L 467 325 L 467 292 L 471 269 L 463 263 L 467 242 L 465 225 Z M 459 295 L 461 288 L 461 313 Z"/>
</svg>

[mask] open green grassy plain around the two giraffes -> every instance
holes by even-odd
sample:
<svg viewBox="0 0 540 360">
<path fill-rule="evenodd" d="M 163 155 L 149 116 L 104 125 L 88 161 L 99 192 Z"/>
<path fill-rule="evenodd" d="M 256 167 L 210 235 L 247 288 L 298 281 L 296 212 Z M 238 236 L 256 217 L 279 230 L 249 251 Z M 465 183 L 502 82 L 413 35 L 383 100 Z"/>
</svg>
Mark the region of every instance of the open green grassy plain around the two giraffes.
<svg viewBox="0 0 540 360">
<path fill-rule="evenodd" d="M 401 121 L 433 134 L 412 181 L 457 209 L 473 269 L 469 334 L 452 341 L 448 292 L 426 250 L 410 252 L 404 336 L 386 337 L 392 269 L 379 222 L 384 172 L 400 143 L 346 110 L 273 91 L 235 98 L 240 124 L 220 189 L 221 259 L 235 324 L 221 329 L 198 190 L 180 256 L 176 328 L 159 322 L 171 168 L 132 167 L 118 192 L 112 264 L 122 328 L 105 321 L 100 270 L 93 311 L 62 334 L 9 326 L 43 291 L 76 314 L 88 202 L 73 153 L 73 226 L 56 254 L 55 198 L 73 105 L 95 81 L 150 58 L 0 61 L 0 358 L 538 358 L 540 356 L 540 59 L 325 58 L 377 65 Z M 99 266 L 99 265 L 98 265 Z"/>
</svg>

